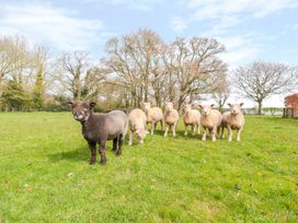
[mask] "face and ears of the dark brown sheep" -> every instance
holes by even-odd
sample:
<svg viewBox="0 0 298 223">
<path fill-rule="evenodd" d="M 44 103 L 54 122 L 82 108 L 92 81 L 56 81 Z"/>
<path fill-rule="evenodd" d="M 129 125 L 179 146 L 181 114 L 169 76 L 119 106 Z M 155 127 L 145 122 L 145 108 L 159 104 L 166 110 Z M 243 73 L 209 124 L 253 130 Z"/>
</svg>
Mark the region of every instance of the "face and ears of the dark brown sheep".
<svg viewBox="0 0 298 223">
<path fill-rule="evenodd" d="M 68 105 L 71 107 L 73 118 L 77 121 L 87 121 L 91 109 L 95 106 L 95 103 L 88 104 L 85 102 L 69 102 Z"/>
</svg>

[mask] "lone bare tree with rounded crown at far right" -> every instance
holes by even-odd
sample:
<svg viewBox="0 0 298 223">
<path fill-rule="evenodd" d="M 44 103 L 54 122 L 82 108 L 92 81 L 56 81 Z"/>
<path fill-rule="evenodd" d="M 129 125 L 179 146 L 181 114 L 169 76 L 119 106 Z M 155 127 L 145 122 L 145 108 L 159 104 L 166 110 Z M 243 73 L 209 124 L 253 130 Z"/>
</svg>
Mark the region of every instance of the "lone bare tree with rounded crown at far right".
<svg viewBox="0 0 298 223">
<path fill-rule="evenodd" d="M 256 61 L 233 71 L 233 80 L 239 92 L 257 103 L 257 114 L 262 114 L 264 99 L 274 94 L 293 90 L 297 69 L 284 63 Z"/>
</svg>

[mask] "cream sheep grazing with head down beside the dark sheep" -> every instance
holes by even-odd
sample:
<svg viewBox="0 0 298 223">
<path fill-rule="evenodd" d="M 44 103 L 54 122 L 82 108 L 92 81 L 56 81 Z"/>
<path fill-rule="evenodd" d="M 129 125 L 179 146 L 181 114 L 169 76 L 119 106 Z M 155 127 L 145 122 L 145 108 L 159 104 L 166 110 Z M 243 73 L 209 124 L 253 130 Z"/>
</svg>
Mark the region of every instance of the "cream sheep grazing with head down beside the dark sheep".
<svg viewBox="0 0 298 223">
<path fill-rule="evenodd" d="M 133 109 L 128 115 L 128 126 L 129 126 L 129 142 L 131 145 L 134 141 L 134 133 L 136 133 L 139 143 L 144 143 L 144 139 L 146 138 L 146 114 L 139 109 Z"/>
</svg>

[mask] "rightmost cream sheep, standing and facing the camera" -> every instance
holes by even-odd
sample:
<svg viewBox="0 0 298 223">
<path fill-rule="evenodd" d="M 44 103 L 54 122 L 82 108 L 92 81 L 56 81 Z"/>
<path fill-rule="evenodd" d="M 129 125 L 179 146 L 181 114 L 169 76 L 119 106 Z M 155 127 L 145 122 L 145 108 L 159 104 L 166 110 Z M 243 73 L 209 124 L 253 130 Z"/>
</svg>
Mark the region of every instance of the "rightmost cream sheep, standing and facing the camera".
<svg viewBox="0 0 298 223">
<path fill-rule="evenodd" d="M 245 124 L 243 114 L 241 113 L 241 107 L 243 103 L 240 104 L 228 104 L 230 111 L 222 114 L 221 121 L 221 133 L 220 138 L 224 139 L 225 128 L 228 129 L 228 141 L 232 141 L 232 130 L 237 130 L 237 141 L 240 141 L 240 134 Z"/>
</svg>

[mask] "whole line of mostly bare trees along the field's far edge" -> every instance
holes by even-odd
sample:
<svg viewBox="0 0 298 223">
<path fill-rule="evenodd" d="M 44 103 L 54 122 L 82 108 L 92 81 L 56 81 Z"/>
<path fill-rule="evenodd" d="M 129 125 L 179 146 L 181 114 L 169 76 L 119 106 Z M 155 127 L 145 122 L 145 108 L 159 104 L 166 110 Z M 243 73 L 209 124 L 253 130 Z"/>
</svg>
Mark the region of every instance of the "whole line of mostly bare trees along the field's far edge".
<svg viewBox="0 0 298 223">
<path fill-rule="evenodd" d="M 233 87 L 262 108 L 268 96 L 289 91 L 297 69 L 254 62 L 228 73 L 225 46 L 214 38 L 177 37 L 165 42 L 150 30 L 110 38 L 104 57 L 85 51 L 51 57 L 22 36 L 0 37 L 0 109 L 62 110 L 69 99 L 98 102 L 100 108 L 162 106 L 214 98 L 219 107 Z M 260 108 L 260 109 L 261 109 Z"/>
</svg>

